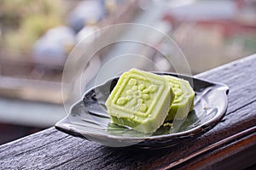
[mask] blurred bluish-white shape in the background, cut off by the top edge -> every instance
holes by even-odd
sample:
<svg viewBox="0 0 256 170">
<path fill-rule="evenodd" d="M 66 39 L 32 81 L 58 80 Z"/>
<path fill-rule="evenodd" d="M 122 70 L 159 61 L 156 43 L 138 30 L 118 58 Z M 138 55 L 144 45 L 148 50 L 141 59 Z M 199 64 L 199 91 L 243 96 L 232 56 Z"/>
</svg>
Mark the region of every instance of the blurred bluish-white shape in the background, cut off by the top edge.
<svg viewBox="0 0 256 170">
<path fill-rule="evenodd" d="M 67 22 L 74 31 L 80 31 L 90 21 L 102 20 L 105 15 L 102 1 L 83 1 L 68 15 Z"/>
</svg>

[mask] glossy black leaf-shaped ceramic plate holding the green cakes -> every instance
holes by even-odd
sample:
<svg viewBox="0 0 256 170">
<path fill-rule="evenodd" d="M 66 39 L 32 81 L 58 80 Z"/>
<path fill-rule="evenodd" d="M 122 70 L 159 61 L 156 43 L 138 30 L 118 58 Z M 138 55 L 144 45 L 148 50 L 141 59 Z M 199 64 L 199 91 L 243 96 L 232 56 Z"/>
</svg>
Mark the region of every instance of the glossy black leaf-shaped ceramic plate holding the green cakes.
<svg viewBox="0 0 256 170">
<path fill-rule="evenodd" d="M 157 74 L 177 77 L 171 73 Z M 224 117 L 229 88 L 218 82 L 178 77 L 188 80 L 195 90 L 194 110 L 185 120 L 174 121 L 172 126 L 162 126 L 155 133 L 138 133 L 111 123 L 104 104 L 119 77 L 87 91 L 84 99 L 73 105 L 68 116 L 57 122 L 55 127 L 73 136 L 111 147 L 163 148 L 193 139 L 206 133 Z"/>
</svg>

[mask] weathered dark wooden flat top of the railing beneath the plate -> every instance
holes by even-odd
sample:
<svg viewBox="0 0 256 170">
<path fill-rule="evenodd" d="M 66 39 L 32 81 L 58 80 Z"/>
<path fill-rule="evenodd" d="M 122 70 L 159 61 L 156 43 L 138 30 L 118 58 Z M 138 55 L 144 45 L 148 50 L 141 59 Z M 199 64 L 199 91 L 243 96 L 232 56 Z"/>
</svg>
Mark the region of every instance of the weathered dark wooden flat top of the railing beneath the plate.
<svg viewBox="0 0 256 170">
<path fill-rule="evenodd" d="M 256 126 L 255 65 L 256 55 L 253 55 L 196 76 L 227 84 L 230 87 L 229 107 L 223 121 L 201 137 L 186 144 L 161 150 L 108 148 L 91 141 L 74 138 L 55 130 L 55 127 L 50 127 L 40 133 L 0 146 L 0 169 L 160 169 L 170 167 L 173 162 L 197 150 Z M 256 143 L 256 141 L 253 142 Z"/>
</svg>

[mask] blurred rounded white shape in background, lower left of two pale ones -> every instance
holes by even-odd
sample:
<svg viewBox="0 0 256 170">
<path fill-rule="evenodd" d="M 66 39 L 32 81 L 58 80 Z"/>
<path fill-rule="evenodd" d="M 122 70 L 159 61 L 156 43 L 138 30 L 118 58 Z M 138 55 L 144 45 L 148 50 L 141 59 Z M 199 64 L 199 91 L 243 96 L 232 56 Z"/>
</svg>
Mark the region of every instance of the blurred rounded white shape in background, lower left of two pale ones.
<svg viewBox="0 0 256 170">
<path fill-rule="evenodd" d="M 67 26 L 50 29 L 43 37 L 35 42 L 33 47 L 34 59 L 39 62 L 60 64 L 65 62 L 67 53 L 75 45 L 75 33 Z"/>
</svg>

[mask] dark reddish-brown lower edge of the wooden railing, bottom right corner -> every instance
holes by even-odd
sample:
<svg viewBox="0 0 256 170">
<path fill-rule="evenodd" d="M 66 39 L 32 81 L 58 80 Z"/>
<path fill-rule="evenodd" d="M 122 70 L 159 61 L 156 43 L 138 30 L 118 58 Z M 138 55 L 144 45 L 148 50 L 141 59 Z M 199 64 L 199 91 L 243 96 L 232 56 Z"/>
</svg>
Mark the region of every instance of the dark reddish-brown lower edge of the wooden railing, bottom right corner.
<svg viewBox="0 0 256 170">
<path fill-rule="evenodd" d="M 216 150 L 204 150 L 202 156 L 197 157 L 196 161 L 187 162 L 183 167 L 186 169 L 196 169 L 196 167 L 206 168 L 209 161 L 212 164 L 212 169 L 232 167 L 232 170 L 234 170 L 245 169 L 248 166 L 252 166 L 255 163 L 256 135 L 248 135 L 248 132 L 255 131 L 255 128 L 256 127 L 251 127 L 241 133 L 236 133 L 228 139 L 218 142 L 222 143 L 223 146 L 217 149 L 215 148 Z M 208 147 L 211 146 L 212 145 Z M 236 159 L 236 161 L 232 159 Z M 219 161 L 222 161 L 222 163 L 219 164 Z M 234 162 L 239 162 L 236 164 L 236 167 L 233 167 Z"/>
</svg>

